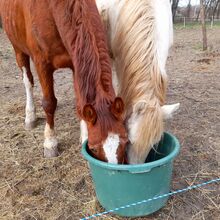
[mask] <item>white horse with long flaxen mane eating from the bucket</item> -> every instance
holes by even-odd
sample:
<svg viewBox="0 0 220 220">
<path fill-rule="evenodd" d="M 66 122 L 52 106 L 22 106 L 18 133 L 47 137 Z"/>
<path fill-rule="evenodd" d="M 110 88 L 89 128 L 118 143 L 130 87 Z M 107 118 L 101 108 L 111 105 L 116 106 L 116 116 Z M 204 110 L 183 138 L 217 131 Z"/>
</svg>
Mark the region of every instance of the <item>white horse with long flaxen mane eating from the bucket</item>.
<svg viewBox="0 0 220 220">
<path fill-rule="evenodd" d="M 173 41 L 170 0 L 96 0 L 125 103 L 128 162 L 144 163 L 163 134 L 163 119 L 179 108 L 164 105 L 165 64 Z"/>
</svg>

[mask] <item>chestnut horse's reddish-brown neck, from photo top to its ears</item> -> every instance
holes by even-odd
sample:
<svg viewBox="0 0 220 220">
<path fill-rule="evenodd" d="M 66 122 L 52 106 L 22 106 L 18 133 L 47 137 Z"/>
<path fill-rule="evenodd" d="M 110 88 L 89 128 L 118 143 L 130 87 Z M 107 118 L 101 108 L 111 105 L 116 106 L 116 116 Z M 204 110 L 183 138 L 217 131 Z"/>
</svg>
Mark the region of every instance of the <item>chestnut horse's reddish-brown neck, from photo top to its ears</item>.
<svg viewBox="0 0 220 220">
<path fill-rule="evenodd" d="M 93 0 L 49 0 L 57 29 L 74 65 L 75 90 L 82 105 L 101 91 L 114 96 L 111 64 Z M 103 92 L 104 91 L 104 92 Z"/>
</svg>

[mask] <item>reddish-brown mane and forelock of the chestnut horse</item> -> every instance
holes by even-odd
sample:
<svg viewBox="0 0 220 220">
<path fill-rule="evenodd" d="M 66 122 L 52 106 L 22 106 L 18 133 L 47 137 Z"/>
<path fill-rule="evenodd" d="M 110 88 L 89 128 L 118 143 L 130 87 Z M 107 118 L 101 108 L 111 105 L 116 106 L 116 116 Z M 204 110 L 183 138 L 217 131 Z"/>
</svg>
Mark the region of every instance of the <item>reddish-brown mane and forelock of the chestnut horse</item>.
<svg viewBox="0 0 220 220">
<path fill-rule="evenodd" d="M 59 2 L 56 8 L 58 5 Z M 65 16 L 62 33 L 65 37 L 62 38 L 66 39 L 64 43 L 74 64 L 78 111 L 81 113 L 85 104 L 92 104 L 97 111 L 102 130 L 109 130 L 113 121 L 103 115 L 103 112 L 108 112 L 107 108 L 114 101 L 115 92 L 100 15 L 93 0 L 69 0 L 63 7 Z"/>
</svg>

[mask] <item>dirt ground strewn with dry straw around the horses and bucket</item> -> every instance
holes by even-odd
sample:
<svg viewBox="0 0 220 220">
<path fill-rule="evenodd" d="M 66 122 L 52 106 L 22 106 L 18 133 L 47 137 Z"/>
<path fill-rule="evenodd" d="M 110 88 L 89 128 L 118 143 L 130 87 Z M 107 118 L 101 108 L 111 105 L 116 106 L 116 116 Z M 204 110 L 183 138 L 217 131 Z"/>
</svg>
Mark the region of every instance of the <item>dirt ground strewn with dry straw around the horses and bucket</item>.
<svg viewBox="0 0 220 220">
<path fill-rule="evenodd" d="M 208 30 L 208 39 L 209 50 L 204 53 L 200 29 L 175 30 L 167 65 L 168 103 L 180 102 L 181 108 L 167 121 L 166 130 L 179 138 L 181 152 L 174 163 L 172 189 L 220 177 L 220 28 Z M 45 116 L 35 82 L 38 126 L 27 132 L 21 73 L 0 31 L 0 219 L 70 220 L 102 211 L 80 153 L 71 72 L 55 74 L 55 123 L 62 152 L 55 159 L 43 158 Z M 136 219 L 217 220 L 219 216 L 220 187 L 211 184 L 176 195 L 160 211 Z"/>
</svg>

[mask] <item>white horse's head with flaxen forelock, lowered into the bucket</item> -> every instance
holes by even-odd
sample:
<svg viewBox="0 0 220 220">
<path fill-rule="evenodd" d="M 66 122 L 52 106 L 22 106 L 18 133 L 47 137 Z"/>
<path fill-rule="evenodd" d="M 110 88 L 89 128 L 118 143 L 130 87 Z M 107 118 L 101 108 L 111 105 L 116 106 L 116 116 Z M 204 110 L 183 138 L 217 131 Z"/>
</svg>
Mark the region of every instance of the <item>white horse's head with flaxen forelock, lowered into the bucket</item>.
<svg viewBox="0 0 220 220">
<path fill-rule="evenodd" d="M 157 144 L 163 133 L 163 120 L 171 118 L 179 108 L 179 103 L 160 106 L 139 101 L 127 119 L 129 146 L 128 162 L 144 163 L 151 148 Z"/>
</svg>

